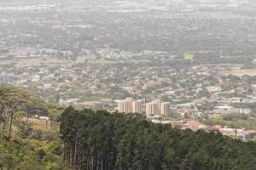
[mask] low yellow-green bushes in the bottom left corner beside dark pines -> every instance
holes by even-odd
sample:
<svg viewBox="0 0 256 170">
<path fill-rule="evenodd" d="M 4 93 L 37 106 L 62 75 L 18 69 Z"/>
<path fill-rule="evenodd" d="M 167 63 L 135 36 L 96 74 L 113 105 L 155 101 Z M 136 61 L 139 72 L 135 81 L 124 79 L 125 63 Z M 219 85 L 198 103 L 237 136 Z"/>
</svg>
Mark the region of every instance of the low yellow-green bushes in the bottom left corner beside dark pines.
<svg viewBox="0 0 256 170">
<path fill-rule="evenodd" d="M 2 170 L 63 170 L 61 144 L 40 143 L 39 140 L 22 139 L 7 141 L 0 138 L 0 169 Z M 55 168 L 51 168 L 55 167 Z"/>
</svg>

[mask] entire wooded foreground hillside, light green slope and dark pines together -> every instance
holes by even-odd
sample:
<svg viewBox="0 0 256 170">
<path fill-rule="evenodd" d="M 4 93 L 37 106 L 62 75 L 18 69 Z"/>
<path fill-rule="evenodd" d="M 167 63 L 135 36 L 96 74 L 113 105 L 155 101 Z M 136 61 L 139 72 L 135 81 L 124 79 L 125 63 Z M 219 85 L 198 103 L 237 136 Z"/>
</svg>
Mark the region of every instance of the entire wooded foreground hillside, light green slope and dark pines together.
<svg viewBox="0 0 256 170">
<path fill-rule="evenodd" d="M 0 106 L 3 170 L 256 169 L 256 144 L 220 133 L 183 131 L 141 115 L 73 107 L 59 117 L 61 108 L 5 86 L 0 88 Z M 32 118 L 35 114 L 50 116 L 55 123 L 45 127 L 44 121 Z"/>
</svg>

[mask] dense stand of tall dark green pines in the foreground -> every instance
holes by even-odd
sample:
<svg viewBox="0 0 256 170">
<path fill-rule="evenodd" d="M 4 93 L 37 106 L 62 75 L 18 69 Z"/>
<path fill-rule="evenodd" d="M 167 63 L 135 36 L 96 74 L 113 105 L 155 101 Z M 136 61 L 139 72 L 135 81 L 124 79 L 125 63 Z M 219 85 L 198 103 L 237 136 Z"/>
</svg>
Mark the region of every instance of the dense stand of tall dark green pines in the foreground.
<svg viewBox="0 0 256 170">
<path fill-rule="evenodd" d="M 68 108 L 61 139 L 78 169 L 256 169 L 256 144 L 107 111 Z"/>
</svg>

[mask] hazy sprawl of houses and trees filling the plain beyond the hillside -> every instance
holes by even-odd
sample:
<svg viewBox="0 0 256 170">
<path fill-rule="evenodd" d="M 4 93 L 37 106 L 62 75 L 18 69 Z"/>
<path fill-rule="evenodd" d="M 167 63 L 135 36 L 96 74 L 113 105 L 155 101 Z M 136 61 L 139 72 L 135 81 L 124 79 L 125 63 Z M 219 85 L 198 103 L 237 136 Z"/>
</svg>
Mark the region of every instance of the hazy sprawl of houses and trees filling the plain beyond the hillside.
<svg viewBox="0 0 256 170">
<path fill-rule="evenodd" d="M 249 0 L 0 3 L 0 83 L 62 107 L 256 130 L 255 7 Z M 116 101 L 127 98 L 134 111 L 119 110 Z"/>
</svg>

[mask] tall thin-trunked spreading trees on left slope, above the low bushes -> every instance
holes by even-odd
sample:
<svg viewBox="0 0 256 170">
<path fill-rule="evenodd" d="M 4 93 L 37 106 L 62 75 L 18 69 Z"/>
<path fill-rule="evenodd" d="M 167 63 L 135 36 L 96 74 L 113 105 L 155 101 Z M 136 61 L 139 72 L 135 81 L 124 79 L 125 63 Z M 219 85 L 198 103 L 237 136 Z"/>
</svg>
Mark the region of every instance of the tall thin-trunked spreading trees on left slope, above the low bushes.
<svg viewBox="0 0 256 170">
<path fill-rule="evenodd" d="M 0 133 L 2 137 L 11 139 L 22 133 L 30 133 L 29 117 L 49 116 L 57 110 L 55 105 L 26 90 L 0 86 Z M 24 121 L 26 118 L 26 121 Z M 15 124 L 15 126 L 14 126 Z"/>
</svg>

